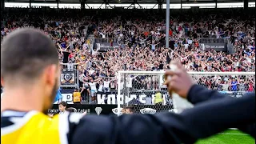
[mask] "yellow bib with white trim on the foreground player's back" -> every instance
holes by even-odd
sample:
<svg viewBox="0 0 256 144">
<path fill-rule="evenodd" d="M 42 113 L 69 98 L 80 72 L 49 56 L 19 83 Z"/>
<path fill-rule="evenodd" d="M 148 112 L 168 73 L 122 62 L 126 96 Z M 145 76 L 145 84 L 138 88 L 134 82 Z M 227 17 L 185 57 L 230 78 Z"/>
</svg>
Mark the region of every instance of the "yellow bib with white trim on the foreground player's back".
<svg viewBox="0 0 256 144">
<path fill-rule="evenodd" d="M 12 124 L 1 126 L 1 144 L 68 144 L 68 117 L 67 113 L 50 119 L 37 111 L 23 117 L 8 117 L 6 122 Z"/>
</svg>

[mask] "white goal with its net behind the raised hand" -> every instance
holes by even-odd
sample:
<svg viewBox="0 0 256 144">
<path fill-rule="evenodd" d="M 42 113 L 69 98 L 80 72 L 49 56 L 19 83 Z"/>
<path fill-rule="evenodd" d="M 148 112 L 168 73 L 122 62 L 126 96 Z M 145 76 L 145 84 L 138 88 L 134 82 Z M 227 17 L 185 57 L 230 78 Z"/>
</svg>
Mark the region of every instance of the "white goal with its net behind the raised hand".
<svg viewBox="0 0 256 144">
<path fill-rule="evenodd" d="M 118 71 L 118 115 L 122 108 L 134 106 L 134 113 L 175 112 L 168 94 L 164 71 Z M 241 97 L 255 90 L 254 72 L 189 72 L 198 85 L 218 90 L 226 96 Z"/>
</svg>

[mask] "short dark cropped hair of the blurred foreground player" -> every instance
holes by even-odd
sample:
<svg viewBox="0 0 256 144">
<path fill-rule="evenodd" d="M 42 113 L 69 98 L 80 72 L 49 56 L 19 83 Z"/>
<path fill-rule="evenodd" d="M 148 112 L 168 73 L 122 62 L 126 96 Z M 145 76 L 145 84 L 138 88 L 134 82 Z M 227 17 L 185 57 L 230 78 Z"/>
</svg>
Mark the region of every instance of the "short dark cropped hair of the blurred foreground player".
<svg viewBox="0 0 256 144">
<path fill-rule="evenodd" d="M 58 65 L 58 50 L 42 31 L 22 28 L 3 39 L 1 77 L 32 80 L 46 66 Z"/>
</svg>

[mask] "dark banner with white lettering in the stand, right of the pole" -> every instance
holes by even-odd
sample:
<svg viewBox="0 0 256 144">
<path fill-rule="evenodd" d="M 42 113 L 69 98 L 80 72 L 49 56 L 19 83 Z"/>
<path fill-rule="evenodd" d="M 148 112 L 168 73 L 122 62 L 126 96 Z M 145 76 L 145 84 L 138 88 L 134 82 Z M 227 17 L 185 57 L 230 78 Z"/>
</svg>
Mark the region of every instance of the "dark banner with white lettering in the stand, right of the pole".
<svg viewBox="0 0 256 144">
<path fill-rule="evenodd" d="M 215 51 L 227 51 L 226 43 L 200 43 L 200 48 L 204 51 L 215 50 Z"/>
</svg>

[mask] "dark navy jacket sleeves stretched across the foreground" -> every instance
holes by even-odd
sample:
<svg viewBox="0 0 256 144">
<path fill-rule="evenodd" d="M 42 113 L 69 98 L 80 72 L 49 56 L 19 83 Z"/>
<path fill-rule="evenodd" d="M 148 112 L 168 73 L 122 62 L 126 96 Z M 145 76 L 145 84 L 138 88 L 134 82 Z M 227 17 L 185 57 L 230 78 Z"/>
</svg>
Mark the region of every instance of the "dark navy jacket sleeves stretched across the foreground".
<svg viewBox="0 0 256 144">
<path fill-rule="evenodd" d="M 85 116 L 70 125 L 72 144 L 174 144 L 194 143 L 228 128 L 255 138 L 255 93 L 232 98 L 194 85 L 188 100 L 194 108 L 182 114 L 131 114 Z"/>
</svg>

